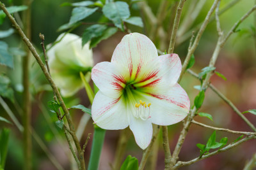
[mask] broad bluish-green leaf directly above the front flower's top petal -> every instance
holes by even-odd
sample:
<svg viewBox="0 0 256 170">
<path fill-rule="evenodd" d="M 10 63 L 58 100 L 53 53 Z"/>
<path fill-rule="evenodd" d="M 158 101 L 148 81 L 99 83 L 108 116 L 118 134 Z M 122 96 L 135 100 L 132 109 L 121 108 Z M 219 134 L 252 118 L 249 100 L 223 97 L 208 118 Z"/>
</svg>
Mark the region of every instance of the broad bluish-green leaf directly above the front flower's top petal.
<svg viewBox="0 0 256 170">
<path fill-rule="evenodd" d="M 105 4 L 102 8 L 104 15 L 112 20 L 116 27 L 124 31 L 124 20 L 130 17 L 129 5 L 122 1 Z"/>
</svg>

